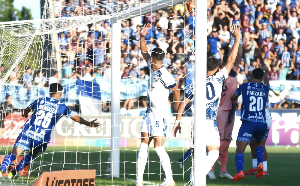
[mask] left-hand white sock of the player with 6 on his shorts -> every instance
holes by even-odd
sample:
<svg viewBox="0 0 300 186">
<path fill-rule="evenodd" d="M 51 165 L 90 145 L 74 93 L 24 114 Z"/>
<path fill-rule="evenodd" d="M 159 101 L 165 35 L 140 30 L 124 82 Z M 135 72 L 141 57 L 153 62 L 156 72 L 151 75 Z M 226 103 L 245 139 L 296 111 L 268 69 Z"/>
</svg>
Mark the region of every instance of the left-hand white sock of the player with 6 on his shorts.
<svg viewBox="0 0 300 186">
<path fill-rule="evenodd" d="M 137 157 L 137 179 L 143 180 L 148 159 L 148 145 L 146 143 L 141 143 L 139 155 Z"/>
</svg>

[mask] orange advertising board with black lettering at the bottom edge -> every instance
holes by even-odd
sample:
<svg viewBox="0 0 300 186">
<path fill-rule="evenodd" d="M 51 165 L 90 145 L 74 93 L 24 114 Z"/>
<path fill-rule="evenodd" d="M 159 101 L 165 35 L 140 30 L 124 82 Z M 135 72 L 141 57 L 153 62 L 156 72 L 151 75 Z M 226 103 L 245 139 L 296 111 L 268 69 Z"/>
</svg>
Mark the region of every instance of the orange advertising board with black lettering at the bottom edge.
<svg viewBox="0 0 300 186">
<path fill-rule="evenodd" d="M 33 186 L 95 186 L 96 170 L 63 170 L 42 173 Z"/>
</svg>

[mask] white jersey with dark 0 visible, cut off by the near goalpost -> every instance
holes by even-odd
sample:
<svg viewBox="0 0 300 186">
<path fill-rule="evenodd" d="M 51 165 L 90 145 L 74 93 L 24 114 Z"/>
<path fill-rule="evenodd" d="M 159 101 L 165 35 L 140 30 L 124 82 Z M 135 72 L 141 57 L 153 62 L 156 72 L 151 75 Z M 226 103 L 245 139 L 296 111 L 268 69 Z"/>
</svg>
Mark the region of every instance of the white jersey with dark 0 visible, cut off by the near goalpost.
<svg viewBox="0 0 300 186">
<path fill-rule="evenodd" d="M 228 78 L 228 73 L 225 67 L 216 75 L 206 78 L 206 120 L 217 121 L 223 82 L 226 78 Z"/>
</svg>

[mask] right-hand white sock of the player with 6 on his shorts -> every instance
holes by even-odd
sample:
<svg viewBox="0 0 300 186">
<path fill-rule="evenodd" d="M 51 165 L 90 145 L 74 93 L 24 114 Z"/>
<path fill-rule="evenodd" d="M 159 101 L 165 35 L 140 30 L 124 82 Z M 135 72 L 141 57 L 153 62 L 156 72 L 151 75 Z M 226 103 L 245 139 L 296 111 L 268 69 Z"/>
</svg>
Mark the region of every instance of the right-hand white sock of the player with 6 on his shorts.
<svg viewBox="0 0 300 186">
<path fill-rule="evenodd" d="M 173 175 L 172 175 L 172 168 L 171 168 L 171 162 L 170 157 L 167 154 L 164 146 L 159 146 L 154 148 L 160 161 L 161 161 L 161 167 L 163 167 L 163 170 L 166 174 L 166 180 L 167 182 L 173 182 Z"/>
</svg>

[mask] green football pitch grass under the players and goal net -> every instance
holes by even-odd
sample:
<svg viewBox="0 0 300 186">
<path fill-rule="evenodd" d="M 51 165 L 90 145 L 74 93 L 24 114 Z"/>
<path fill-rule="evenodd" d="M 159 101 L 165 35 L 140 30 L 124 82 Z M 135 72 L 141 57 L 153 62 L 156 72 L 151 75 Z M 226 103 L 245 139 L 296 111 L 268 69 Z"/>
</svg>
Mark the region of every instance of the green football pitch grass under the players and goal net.
<svg viewBox="0 0 300 186">
<path fill-rule="evenodd" d="M 6 155 L 10 153 L 11 147 L 0 150 L 0 155 Z M 100 152 L 100 150 L 102 151 Z M 166 148 L 171 150 L 171 148 Z M 5 152 L 6 151 L 6 152 Z M 77 151 L 77 152 L 76 152 Z M 185 150 L 184 150 L 185 151 Z M 230 182 L 228 179 L 219 179 L 218 173 L 220 166 L 217 164 L 214 170 L 216 180 L 206 179 L 206 185 L 209 186 L 233 186 L 233 185 L 264 185 L 264 186 L 281 186 L 281 185 L 300 185 L 299 183 L 299 153 L 300 149 L 296 147 L 267 147 L 268 151 L 268 169 L 269 176 L 263 176 L 261 179 L 257 179 L 255 176 L 245 175 L 244 179 L 238 182 Z M 88 153 L 89 152 L 89 153 Z M 182 148 L 173 148 L 173 152 L 167 151 L 171 161 L 175 161 L 173 166 L 173 178 L 177 186 L 188 185 L 191 161 L 188 159 L 185 164 L 185 168 L 179 167 L 177 161 L 183 155 Z M 109 152 L 107 147 L 55 147 L 49 146 L 44 155 L 39 156 L 34 160 L 32 164 L 32 170 L 34 170 L 29 178 L 28 176 L 22 176 L 19 179 L 8 180 L 6 177 L 0 179 L 1 185 L 33 185 L 38 178 L 38 173 L 47 171 L 58 170 L 74 170 L 74 169 L 96 169 L 96 185 L 120 185 L 120 186 L 134 186 L 136 179 L 136 162 L 137 162 L 137 148 L 121 148 L 120 151 L 120 179 L 109 178 L 108 173 L 108 158 Z M 235 163 L 235 148 L 229 148 L 227 171 L 234 176 L 236 173 Z M 87 162 L 89 166 L 87 166 Z M 101 164 L 99 165 L 99 161 Z M 125 163 L 124 163 L 125 161 Z M 52 164 L 51 164 L 52 162 Z M 164 179 L 163 170 L 160 166 L 159 158 L 154 149 L 149 151 L 149 165 L 147 163 L 144 174 L 145 185 L 159 185 L 161 180 Z M 40 166 L 42 165 L 42 166 Z M 250 154 L 250 148 L 247 147 L 245 152 L 244 172 L 248 171 L 252 167 L 252 157 Z M 99 174 L 103 176 L 99 176 Z"/>
</svg>

